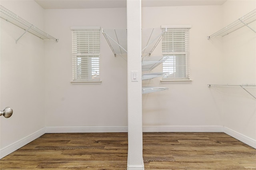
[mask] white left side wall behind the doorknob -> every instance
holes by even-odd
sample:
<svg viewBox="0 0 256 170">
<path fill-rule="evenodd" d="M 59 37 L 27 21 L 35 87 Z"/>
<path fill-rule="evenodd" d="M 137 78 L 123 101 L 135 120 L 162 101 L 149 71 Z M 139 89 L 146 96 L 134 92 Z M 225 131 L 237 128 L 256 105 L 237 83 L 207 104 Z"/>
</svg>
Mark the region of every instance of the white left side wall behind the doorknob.
<svg viewBox="0 0 256 170">
<path fill-rule="evenodd" d="M 43 9 L 34 1 L 5 1 L 1 5 L 39 28 Z M 20 8 L 22 6 L 22 8 Z M 29 12 L 28 12 L 29 11 Z M 12 117 L 0 117 L 0 151 L 44 128 L 44 41 L 6 20 L 1 22 L 1 110 L 9 106 Z M 0 152 L 0 154 L 4 154 Z M 0 157 L 5 155 L 0 155 Z"/>
</svg>

